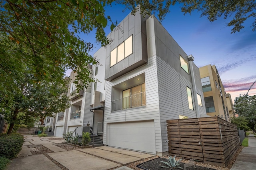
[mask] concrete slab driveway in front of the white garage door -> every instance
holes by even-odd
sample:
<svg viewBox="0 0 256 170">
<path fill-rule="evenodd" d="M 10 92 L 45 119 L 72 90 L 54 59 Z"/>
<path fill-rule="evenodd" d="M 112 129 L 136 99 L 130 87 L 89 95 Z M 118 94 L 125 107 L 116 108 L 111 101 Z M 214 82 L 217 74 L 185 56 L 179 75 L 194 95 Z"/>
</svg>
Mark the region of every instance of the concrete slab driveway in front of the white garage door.
<svg viewBox="0 0 256 170">
<path fill-rule="evenodd" d="M 56 160 L 62 166 L 69 170 L 131 170 L 126 164 L 135 162 L 154 155 L 135 152 L 112 147 L 85 148 L 79 150 L 65 150 L 56 145 L 63 140 L 50 140 L 56 137 L 37 137 L 35 135 L 25 135 L 25 143 L 22 147 L 19 157 L 12 160 L 8 170 L 38 170 L 41 168 L 60 170 L 54 162 L 44 154 L 32 155 L 29 147 L 43 145 L 52 150 L 47 155 Z"/>
</svg>

